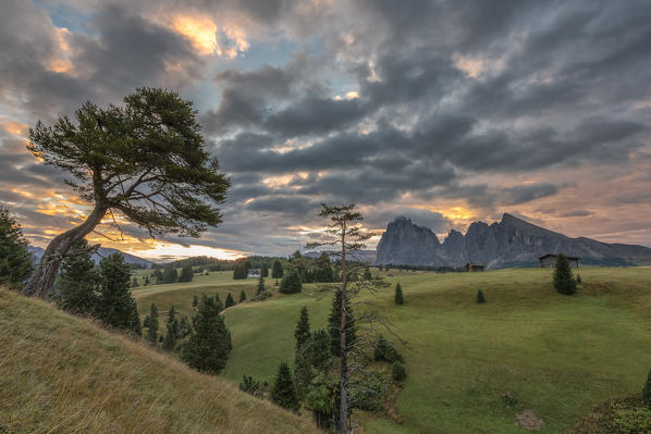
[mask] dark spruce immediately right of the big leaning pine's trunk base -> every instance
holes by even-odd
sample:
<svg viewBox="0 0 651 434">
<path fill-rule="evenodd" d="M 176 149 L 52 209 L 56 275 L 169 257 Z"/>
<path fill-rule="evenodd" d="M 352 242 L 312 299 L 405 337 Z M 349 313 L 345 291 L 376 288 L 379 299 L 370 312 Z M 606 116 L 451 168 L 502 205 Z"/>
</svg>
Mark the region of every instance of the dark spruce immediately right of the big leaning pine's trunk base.
<svg viewBox="0 0 651 434">
<path fill-rule="evenodd" d="M 99 273 L 88 251 L 88 243 L 81 239 L 61 264 L 54 296 L 57 306 L 71 313 L 94 315 L 98 308 L 98 286 Z"/>
</svg>

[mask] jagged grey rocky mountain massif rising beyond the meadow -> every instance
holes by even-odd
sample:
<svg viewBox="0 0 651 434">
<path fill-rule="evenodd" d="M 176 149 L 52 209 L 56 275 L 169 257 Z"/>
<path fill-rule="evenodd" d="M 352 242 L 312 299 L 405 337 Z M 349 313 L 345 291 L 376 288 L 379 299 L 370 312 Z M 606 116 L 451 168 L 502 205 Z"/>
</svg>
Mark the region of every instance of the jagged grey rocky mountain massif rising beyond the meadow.
<svg viewBox="0 0 651 434">
<path fill-rule="evenodd" d="M 651 264 L 651 248 L 606 244 L 563 234 L 504 214 L 501 222 L 470 224 L 466 234 L 450 231 L 441 243 L 429 228 L 407 218 L 389 223 L 378 244 L 376 264 L 462 266 L 481 263 L 487 269 L 539 266 L 546 253 L 579 257 L 580 264 L 622 266 Z"/>
</svg>

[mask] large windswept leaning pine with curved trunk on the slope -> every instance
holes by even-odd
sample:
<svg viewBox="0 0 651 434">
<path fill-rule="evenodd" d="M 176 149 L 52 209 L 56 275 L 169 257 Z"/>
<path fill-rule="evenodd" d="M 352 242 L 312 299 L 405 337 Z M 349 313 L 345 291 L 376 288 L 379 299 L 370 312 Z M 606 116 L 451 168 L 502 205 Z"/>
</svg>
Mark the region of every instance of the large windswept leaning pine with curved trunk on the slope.
<svg viewBox="0 0 651 434">
<path fill-rule="evenodd" d="M 122 106 L 86 102 L 74 121 L 29 129 L 29 151 L 71 175 L 66 183 L 93 211 L 50 241 L 24 295 L 45 298 L 70 248 L 109 213 L 151 235 L 197 237 L 221 222 L 230 183 L 209 157 L 196 115 L 177 94 L 142 88 Z"/>
</svg>

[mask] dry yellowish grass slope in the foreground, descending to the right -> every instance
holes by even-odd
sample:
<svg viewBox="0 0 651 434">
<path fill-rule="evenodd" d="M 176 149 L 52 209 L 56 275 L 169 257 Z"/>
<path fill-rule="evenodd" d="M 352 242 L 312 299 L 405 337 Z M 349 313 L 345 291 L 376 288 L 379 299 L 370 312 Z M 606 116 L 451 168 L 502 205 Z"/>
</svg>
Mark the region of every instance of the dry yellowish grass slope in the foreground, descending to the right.
<svg viewBox="0 0 651 434">
<path fill-rule="evenodd" d="M 0 289 L 2 433 L 308 433 L 303 419 Z"/>
</svg>

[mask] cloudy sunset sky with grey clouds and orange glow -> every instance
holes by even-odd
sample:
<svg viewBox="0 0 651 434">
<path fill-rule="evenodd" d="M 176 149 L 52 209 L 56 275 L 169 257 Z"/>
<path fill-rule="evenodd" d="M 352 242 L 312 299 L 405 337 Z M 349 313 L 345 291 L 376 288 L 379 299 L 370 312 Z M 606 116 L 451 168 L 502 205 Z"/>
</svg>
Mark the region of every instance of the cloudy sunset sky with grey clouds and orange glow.
<svg viewBox="0 0 651 434">
<path fill-rule="evenodd" d="M 651 2 L 3 0 L 0 202 L 46 246 L 88 206 L 28 128 L 138 87 L 194 101 L 232 186 L 200 238 L 118 216 L 89 238 L 151 259 L 287 255 L 321 202 L 376 236 L 508 212 L 651 246 Z"/>
</svg>

